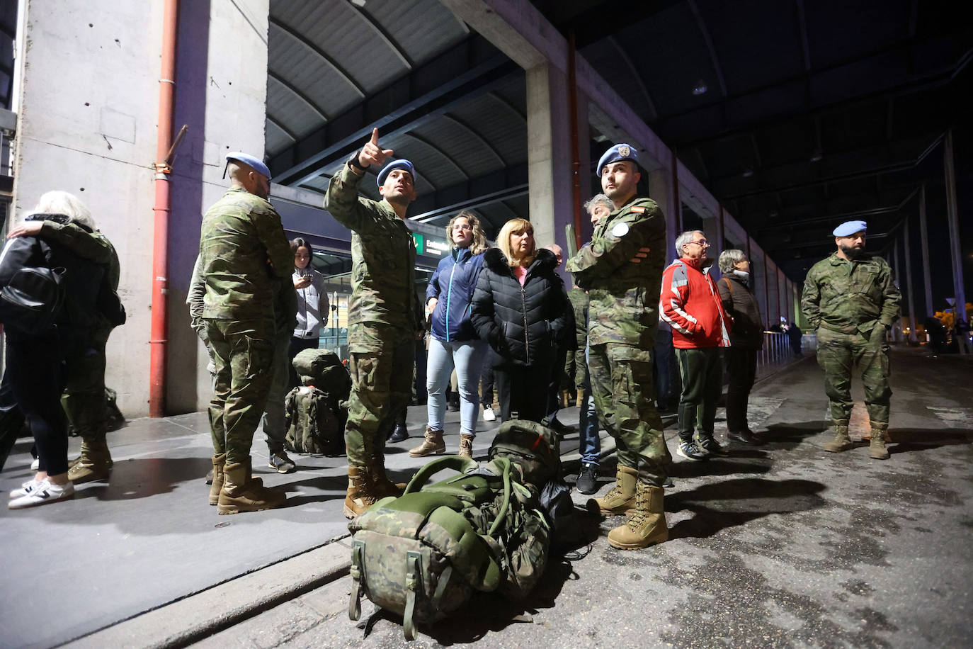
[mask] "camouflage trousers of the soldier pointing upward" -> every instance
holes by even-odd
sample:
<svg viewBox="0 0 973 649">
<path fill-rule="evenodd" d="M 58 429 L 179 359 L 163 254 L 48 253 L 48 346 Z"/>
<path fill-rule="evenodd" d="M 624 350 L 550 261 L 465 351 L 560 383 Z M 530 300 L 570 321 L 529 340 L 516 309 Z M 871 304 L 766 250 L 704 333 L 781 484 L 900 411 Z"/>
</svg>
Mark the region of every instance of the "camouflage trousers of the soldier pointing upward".
<svg viewBox="0 0 973 649">
<path fill-rule="evenodd" d="M 383 457 L 395 416 L 412 396 L 415 338 L 412 331 L 359 322 L 348 326 L 351 396 L 344 446 L 349 466 L 371 466 Z"/>
</svg>

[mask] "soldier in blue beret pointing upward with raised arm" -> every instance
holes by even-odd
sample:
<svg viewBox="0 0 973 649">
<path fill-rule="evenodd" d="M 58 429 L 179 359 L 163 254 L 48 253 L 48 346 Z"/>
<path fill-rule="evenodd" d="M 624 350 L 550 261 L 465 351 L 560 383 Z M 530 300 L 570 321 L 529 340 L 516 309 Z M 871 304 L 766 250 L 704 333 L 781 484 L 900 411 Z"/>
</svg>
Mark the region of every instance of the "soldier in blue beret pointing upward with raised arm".
<svg viewBox="0 0 973 649">
<path fill-rule="evenodd" d="M 351 230 L 348 368 L 351 397 L 344 444 L 348 488 L 344 516 L 352 519 L 386 495 L 399 494 L 385 476 L 385 440 L 412 395 L 415 336 L 422 305 L 415 292 L 415 243 L 404 219 L 415 199 L 412 162 L 396 160 L 378 172 L 381 200 L 358 197 L 369 167 L 392 155 L 378 146 L 378 128 L 342 165 L 328 186 L 325 209 Z"/>
</svg>

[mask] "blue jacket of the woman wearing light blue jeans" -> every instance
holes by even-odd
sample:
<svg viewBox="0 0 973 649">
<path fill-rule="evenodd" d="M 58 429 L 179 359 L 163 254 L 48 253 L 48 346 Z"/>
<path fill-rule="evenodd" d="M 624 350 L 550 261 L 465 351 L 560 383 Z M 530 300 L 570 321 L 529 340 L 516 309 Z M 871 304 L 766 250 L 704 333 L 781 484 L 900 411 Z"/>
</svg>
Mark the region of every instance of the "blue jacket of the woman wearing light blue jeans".
<svg viewBox="0 0 973 649">
<path fill-rule="evenodd" d="M 477 338 L 470 321 L 473 291 L 483 269 L 483 253 L 474 255 L 469 248 L 452 248 L 432 273 L 426 288 L 426 303 L 436 298 L 432 312 L 432 335 L 441 341 L 472 341 Z"/>
</svg>

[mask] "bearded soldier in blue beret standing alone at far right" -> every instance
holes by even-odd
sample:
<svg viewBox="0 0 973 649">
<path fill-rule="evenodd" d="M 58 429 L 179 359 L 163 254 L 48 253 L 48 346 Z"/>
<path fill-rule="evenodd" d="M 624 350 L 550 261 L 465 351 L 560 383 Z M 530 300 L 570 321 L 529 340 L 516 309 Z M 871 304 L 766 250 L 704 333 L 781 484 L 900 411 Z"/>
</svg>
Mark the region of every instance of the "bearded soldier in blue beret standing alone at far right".
<svg viewBox="0 0 973 649">
<path fill-rule="evenodd" d="M 888 459 L 888 344 L 885 333 L 895 322 L 902 296 L 881 257 L 865 253 L 864 221 L 848 221 L 835 231 L 838 250 L 808 271 L 801 308 L 817 334 L 817 363 L 824 370 L 824 391 L 831 402 L 835 438 L 825 451 L 851 449 L 851 372 L 861 370 L 865 408 L 872 423 L 869 454 Z"/>
</svg>

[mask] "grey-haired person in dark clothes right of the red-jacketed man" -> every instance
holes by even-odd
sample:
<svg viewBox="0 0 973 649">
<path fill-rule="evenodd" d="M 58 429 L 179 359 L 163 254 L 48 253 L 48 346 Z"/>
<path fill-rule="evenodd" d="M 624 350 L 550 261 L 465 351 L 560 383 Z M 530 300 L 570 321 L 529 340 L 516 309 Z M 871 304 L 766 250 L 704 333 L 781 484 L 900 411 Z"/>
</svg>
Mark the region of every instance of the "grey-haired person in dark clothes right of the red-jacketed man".
<svg viewBox="0 0 973 649">
<path fill-rule="evenodd" d="M 727 437 L 742 444 L 761 444 L 746 420 L 750 388 L 757 376 L 757 351 L 764 346 L 760 306 L 750 288 L 750 261 L 742 250 L 724 250 L 718 261 L 723 276 L 716 282 L 723 309 L 733 317 L 730 346 L 723 349 L 730 385 L 727 389 Z"/>
</svg>

